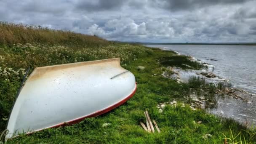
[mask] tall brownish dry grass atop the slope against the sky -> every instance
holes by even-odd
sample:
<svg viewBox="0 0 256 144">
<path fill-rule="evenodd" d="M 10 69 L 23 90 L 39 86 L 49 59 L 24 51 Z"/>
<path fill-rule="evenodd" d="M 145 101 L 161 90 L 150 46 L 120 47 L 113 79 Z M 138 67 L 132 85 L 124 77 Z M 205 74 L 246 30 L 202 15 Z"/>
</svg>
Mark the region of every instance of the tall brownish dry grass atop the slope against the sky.
<svg viewBox="0 0 256 144">
<path fill-rule="evenodd" d="M 97 36 L 0 21 L 0 44 L 12 46 L 16 43 L 48 43 L 53 45 L 97 47 L 111 42 Z"/>
</svg>

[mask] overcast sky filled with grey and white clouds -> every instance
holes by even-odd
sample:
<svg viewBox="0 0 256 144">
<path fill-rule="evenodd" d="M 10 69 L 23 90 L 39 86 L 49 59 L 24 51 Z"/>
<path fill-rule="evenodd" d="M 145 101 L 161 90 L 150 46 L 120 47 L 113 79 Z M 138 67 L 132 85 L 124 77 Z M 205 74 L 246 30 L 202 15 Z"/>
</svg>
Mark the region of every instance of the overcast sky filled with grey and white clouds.
<svg viewBox="0 0 256 144">
<path fill-rule="evenodd" d="M 256 42 L 256 0 L 0 0 L 0 21 L 118 41 Z"/>
</svg>

